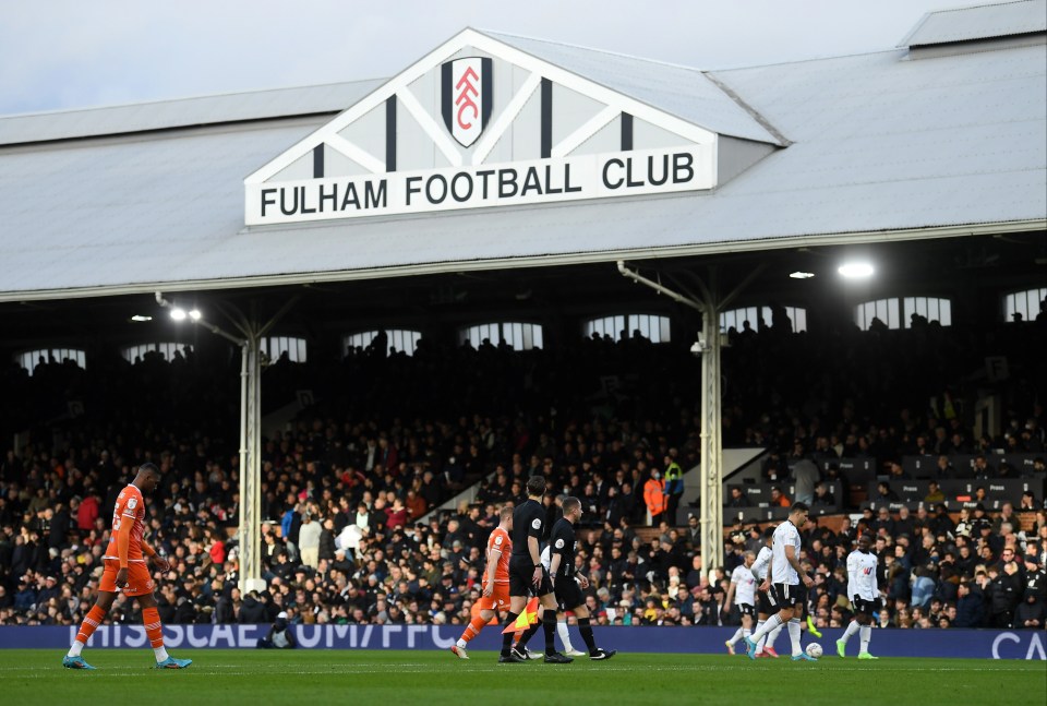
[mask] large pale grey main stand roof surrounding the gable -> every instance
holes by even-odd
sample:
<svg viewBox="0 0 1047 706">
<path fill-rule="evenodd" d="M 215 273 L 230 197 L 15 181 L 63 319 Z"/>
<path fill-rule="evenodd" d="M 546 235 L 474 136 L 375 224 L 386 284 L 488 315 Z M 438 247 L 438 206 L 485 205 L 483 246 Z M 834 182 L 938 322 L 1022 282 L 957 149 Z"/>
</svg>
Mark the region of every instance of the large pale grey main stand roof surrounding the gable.
<svg viewBox="0 0 1047 706">
<path fill-rule="evenodd" d="M 248 229 L 244 176 L 329 115 L 0 145 L 0 301 L 1047 227 L 1047 46 L 906 53 L 710 74 L 792 144 L 658 199 Z"/>
</svg>

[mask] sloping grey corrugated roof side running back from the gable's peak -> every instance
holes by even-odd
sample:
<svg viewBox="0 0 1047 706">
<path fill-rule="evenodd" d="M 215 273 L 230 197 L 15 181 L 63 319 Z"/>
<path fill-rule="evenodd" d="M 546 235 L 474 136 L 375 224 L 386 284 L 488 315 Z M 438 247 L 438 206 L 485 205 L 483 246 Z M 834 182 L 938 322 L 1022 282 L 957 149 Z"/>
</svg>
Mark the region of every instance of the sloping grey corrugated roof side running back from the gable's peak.
<svg viewBox="0 0 1047 706">
<path fill-rule="evenodd" d="M 707 130 L 782 144 L 696 69 L 495 32 L 483 34 Z"/>
</svg>

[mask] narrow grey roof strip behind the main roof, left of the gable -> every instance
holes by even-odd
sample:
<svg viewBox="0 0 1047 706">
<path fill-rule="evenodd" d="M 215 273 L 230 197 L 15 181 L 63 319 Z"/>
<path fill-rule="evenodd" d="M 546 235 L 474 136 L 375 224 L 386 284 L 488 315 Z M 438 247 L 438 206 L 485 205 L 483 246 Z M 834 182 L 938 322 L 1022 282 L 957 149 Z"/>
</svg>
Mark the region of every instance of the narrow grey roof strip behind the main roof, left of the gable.
<svg viewBox="0 0 1047 706">
<path fill-rule="evenodd" d="M 0 145 L 345 110 L 385 80 L 0 117 Z"/>
</svg>

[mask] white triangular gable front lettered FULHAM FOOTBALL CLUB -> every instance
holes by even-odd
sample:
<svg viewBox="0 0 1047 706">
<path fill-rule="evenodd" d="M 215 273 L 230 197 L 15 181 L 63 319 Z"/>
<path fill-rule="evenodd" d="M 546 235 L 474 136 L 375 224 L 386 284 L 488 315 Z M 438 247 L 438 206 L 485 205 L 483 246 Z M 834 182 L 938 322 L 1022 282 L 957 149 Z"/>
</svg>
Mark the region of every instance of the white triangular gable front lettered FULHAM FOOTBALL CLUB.
<svg viewBox="0 0 1047 706">
<path fill-rule="evenodd" d="M 493 109 L 471 142 L 442 113 L 452 61 L 493 73 L 483 88 Z M 466 88 L 479 96 L 479 83 Z M 245 223 L 709 190 L 723 173 L 718 137 L 465 29 L 250 175 Z"/>
</svg>

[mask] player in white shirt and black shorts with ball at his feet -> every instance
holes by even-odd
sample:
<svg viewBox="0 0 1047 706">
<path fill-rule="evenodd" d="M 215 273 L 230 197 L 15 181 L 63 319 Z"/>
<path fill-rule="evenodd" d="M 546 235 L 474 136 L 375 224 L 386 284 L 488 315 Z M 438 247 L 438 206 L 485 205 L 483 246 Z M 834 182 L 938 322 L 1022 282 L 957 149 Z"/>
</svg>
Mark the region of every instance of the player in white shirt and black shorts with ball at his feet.
<svg viewBox="0 0 1047 706">
<path fill-rule="evenodd" d="M 756 646 L 759 639 L 779 625 L 785 625 L 789 630 L 789 641 L 793 647 L 793 661 L 818 661 L 799 646 L 799 617 L 803 612 L 804 601 L 807 600 L 807 589 L 815 582 L 808 576 L 799 565 L 799 549 L 802 540 L 799 530 L 807 524 L 807 513 L 809 512 L 806 503 L 793 503 L 790 507 L 789 518 L 774 530 L 773 547 L 771 551 L 771 570 L 768 572 L 767 582 L 771 584 L 774 590 L 774 600 L 780 610 L 778 614 L 771 615 L 763 626 L 745 638 L 747 655 L 749 659 L 756 659 Z M 796 610 L 796 607 L 799 610 Z"/>
</svg>

